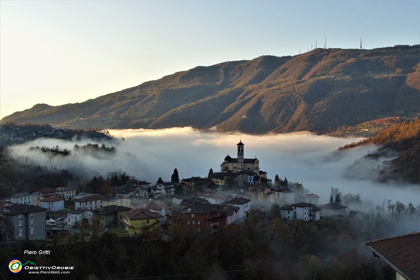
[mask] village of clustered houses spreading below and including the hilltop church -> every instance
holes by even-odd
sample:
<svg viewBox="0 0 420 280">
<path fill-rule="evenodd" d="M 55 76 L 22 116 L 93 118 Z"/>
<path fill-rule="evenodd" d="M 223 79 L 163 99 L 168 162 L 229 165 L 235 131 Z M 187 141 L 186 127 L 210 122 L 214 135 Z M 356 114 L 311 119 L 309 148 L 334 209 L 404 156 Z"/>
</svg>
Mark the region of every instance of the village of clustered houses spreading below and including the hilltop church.
<svg viewBox="0 0 420 280">
<path fill-rule="evenodd" d="M 251 209 L 266 216 L 271 213 L 307 222 L 326 216 L 344 219 L 362 215 L 347 211 L 337 190 L 334 201 L 331 195 L 329 203 L 320 205 L 320 197 L 298 182 L 289 183 L 278 175 L 272 182 L 260 170 L 257 158 L 244 157 L 244 143 L 239 141 L 236 147 L 237 157 L 227 155 L 220 172 L 210 169 L 206 178 L 179 180 L 174 169 L 171 182 L 159 178 L 153 184 L 130 180 L 125 172 L 108 172 L 108 182 L 117 184 L 111 184 L 114 195 L 110 196 L 59 187 L 3 198 L 1 242 L 45 240 L 71 233 L 83 233 L 84 238 L 89 238 L 92 230 L 97 234 L 113 228 L 126 237 L 168 238 L 165 229 L 171 225 L 212 236 L 221 228 L 243 223 Z"/>
</svg>

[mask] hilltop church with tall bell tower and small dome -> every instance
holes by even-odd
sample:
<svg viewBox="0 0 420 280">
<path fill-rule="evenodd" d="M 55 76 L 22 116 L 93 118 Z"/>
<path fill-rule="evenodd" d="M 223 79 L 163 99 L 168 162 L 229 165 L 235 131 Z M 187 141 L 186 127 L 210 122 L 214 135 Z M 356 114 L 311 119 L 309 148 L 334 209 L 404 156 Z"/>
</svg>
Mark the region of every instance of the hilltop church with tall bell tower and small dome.
<svg viewBox="0 0 420 280">
<path fill-rule="evenodd" d="M 238 147 L 238 157 L 231 158 L 228 154 L 220 164 L 220 172 L 252 170 L 257 175 L 260 174 L 260 161 L 257 158 L 244 158 L 244 143 L 242 141 L 239 141 L 236 145 Z"/>
</svg>

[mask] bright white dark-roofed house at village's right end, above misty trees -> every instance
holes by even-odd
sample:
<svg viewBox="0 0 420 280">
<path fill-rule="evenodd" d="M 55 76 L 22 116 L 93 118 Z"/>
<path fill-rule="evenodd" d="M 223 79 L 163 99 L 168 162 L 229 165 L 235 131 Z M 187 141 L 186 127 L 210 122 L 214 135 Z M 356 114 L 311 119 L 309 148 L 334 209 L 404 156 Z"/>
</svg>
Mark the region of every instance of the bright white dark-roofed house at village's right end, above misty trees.
<svg viewBox="0 0 420 280">
<path fill-rule="evenodd" d="M 295 204 L 284 204 L 280 207 L 281 217 L 296 220 L 302 219 L 305 221 L 318 221 L 320 218 L 321 209 L 312 203 L 299 202 Z"/>
</svg>

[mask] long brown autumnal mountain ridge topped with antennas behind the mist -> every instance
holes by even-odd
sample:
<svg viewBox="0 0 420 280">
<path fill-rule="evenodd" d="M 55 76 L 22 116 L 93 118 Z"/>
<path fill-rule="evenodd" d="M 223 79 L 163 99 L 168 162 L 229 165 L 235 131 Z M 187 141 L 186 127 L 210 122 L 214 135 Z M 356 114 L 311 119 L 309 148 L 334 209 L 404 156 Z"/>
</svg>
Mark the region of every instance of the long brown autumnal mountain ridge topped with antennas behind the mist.
<svg viewBox="0 0 420 280">
<path fill-rule="evenodd" d="M 197 66 L 81 103 L 37 104 L 0 122 L 324 134 L 378 116 L 418 114 L 419 58 L 419 45 L 262 55 Z"/>
</svg>

